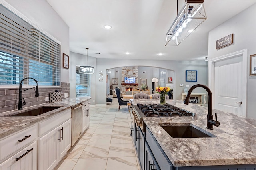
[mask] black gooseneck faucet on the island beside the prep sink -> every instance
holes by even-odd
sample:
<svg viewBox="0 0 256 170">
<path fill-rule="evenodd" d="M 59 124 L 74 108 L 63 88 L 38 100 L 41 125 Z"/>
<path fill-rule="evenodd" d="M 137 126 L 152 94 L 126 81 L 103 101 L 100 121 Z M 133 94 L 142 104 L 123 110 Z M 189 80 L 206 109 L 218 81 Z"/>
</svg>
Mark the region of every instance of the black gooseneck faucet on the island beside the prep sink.
<svg viewBox="0 0 256 170">
<path fill-rule="evenodd" d="M 188 94 L 184 100 L 184 104 L 188 105 L 189 103 L 189 99 L 190 99 L 190 95 L 191 92 L 196 88 L 196 87 L 202 87 L 204 89 L 206 89 L 207 93 L 208 93 L 208 115 L 207 115 L 207 128 L 208 129 L 213 129 L 213 126 L 220 126 L 220 122 L 217 121 L 217 113 L 215 113 L 215 119 L 213 120 L 213 115 L 212 115 L 212 92 L 210 90 L 209 87 L 207 87 L 206 85 L 202 85 L 202 84 L 197 84 L 197 85 L 193 85 L 189 90 L 188 90 Z"/>
</svg>

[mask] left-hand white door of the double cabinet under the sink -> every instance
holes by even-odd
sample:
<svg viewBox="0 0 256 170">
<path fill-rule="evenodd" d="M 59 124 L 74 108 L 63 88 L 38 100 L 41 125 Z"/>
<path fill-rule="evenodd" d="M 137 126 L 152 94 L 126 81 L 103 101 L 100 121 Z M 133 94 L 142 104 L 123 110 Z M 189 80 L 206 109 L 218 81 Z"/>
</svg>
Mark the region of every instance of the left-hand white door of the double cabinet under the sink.
<svg viewBox="0 0 256 170">
<path fill-rule="evenodd" d="M 59 160 L 59 127 L 38 139 L 38 170 L 50 170 Z"/>
</svg>

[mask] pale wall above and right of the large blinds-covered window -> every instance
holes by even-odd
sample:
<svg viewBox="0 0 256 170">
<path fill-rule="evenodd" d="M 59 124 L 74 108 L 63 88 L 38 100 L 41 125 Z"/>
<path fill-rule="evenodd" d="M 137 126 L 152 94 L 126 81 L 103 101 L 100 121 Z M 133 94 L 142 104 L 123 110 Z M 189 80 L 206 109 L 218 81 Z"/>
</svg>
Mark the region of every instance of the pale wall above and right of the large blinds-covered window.
<svg viewBox="0 0 256 170">
<path fill-rule="evenodd" d="M 46 0 L 6 0 L 37 27 L 61 42 L 61 82 L 69 82 L 69 70 L 62 67 L 62 53 L 69 55 L 69 27 Z"/>
</svg>

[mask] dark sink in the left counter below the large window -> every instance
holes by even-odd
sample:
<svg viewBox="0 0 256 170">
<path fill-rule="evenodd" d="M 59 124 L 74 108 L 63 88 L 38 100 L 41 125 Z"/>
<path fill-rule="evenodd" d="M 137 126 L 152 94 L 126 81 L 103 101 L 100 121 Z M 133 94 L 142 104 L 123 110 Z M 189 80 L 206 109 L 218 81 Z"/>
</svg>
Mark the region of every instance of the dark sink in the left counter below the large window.
<svg viewBox="0 0 256 170">
<path fill-rule="evenodd" d="M 29 110 L 29 111 L 24 111 L 22 113 L 17 113 L 17 114 L 8 115 L 8 116 L 38 116 L 38 115 L 41 115 L 43 113 L 46 113 L 46 112 L 58 109 L 60 107 L 62 107 L 62 106 L 57 106 L 57 107 L 39 107 L 37 109 L 33 109 L 33 110 Z"/>
</svg>

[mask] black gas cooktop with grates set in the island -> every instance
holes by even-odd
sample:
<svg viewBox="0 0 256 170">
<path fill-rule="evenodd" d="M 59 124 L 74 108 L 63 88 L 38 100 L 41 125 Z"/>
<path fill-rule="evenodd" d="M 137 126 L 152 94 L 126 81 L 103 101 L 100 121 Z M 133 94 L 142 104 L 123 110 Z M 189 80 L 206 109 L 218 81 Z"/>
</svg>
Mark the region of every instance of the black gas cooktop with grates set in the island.
<svg viewBox="0 0 256 170">
<path fill-rule="evenodd" d="M 159 116 L 195 116 L 194 113 L 180 109 L 170 104 L 142 104 L 138 103 L 134 106 L 142 117 L 159 117 Z"/>
</svg>

